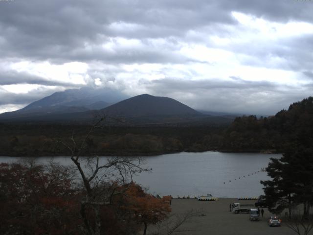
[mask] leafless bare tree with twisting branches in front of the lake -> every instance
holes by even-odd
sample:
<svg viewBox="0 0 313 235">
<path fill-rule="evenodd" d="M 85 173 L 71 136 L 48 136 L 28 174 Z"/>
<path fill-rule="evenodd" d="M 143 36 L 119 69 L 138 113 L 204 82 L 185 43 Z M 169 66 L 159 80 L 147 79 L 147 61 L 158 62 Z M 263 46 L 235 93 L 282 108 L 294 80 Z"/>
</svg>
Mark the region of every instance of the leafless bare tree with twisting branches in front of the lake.
<svg viewBox="0 0 313 235">
<path fill-rule="evenodd" d="M 58 141 L 69 150 L 70 159 L 83 182 L 86 195 L 81 202 L 80 213 L 84 222 L 82 229 L 86 235 L 100 235 L 103 223 L 100 218 L 100 208 L 110 205 L 112 197 L 122 193 L 120 190 L 116 190 L 118 186 L 133 181 L 133 175 L 137 173 L 149 171 L 149 169 L 141 166 L 142 160 L 140 158 L 110 157 L 100 159 L 99 156 L 81 156 L 87 147 L 91 133 L 95 128 L 101 127 L 101 123 L 106 119 L 108 118 L 100 118 L 96 121 L 81 143 L 75 141 L 74 135 L 71 136 L 69 142 Z M 93 223 L 89 221 L 87 208 L 91 208 L 94 213 Z"/>
</svg>

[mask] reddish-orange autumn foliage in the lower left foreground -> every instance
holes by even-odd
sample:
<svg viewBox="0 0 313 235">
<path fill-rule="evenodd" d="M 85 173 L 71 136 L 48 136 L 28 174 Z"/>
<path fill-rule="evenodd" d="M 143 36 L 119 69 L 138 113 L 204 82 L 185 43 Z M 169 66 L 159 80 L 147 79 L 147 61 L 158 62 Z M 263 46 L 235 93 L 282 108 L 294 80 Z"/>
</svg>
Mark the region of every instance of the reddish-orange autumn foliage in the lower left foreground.
<svg viewBox="0 0 313 235">
<path fill-rule="evenodd" d="M 0 234 L 83 234 L 80 210 L 86 192 L 74 186 L 66 167 L 0 164 Z M 170 196 L 156 198 L 134 183 L 105 186 L 111 190 L 112 202 L 100 206 L 102 234 L 135 234 L 143 224 L 146 231 L 148 224 L 171 212 Z M 94 226 L 92 205 L 86 206 L 86 218 Z"/>
</svg>

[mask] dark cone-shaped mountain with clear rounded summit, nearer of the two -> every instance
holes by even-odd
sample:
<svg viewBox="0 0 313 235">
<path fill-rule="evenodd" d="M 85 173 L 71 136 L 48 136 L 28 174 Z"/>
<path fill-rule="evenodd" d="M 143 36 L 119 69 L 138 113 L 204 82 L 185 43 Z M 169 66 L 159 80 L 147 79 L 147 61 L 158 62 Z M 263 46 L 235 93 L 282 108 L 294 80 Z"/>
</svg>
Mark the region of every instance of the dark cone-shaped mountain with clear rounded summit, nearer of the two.
<svg viewBox="0 0 313 235">
<path fill-rule="evenodd" d="M 134 96 L 113 104 L 102 111 L 108 115 L 123 117 L 201 115 L 201 113 L 175 99 L 150 94 Z"/>
</svg>

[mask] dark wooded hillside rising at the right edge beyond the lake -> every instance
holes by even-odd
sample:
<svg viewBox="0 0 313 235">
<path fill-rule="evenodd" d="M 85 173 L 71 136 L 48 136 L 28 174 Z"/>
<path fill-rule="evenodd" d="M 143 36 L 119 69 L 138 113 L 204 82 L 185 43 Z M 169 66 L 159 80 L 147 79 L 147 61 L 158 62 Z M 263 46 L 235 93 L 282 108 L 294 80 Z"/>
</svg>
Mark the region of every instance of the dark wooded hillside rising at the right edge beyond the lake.
<svg viewBox="0 0 313 235">
<path fill-rule="evenodd" d="M 227 128 L 221 149 L 281 152 L 286 145 L 313 144 L 313 97 L 290 105 L 275 116 L 239 117 Z"/>
</svg>

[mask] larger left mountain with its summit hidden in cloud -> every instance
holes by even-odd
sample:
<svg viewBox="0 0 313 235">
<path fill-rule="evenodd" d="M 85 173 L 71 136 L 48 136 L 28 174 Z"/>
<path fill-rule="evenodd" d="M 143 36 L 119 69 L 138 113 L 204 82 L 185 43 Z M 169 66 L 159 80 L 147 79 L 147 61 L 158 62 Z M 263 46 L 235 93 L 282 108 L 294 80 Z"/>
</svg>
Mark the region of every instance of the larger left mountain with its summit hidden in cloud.
<svg viewBox="0 0 313 235">
<path fill-rule="evenodd" d="M 70 89 L 64 92 L 53 93 L 20 110 L 0 114 L 0 119 L 98 110 L 125 98 L 127 98 L 126 95 L 111 89 Z"/>
</svg>

